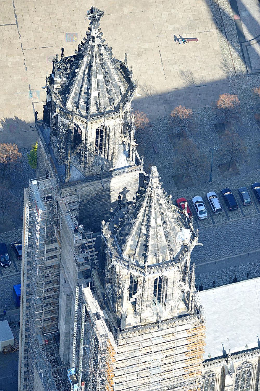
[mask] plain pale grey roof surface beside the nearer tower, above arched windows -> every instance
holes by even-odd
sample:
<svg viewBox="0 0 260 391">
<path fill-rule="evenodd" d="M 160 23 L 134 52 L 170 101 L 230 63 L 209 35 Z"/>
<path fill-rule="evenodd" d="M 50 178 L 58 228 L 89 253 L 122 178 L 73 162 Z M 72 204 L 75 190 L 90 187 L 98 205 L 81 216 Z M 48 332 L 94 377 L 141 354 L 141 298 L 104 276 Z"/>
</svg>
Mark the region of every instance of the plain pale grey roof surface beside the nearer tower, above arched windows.
<svg viewBox="0 0 260 391">
<path fill-rule="evenodd" d="M 260 336 L 260 278 L 198 293 L 206 315 L 204 359 L 258 346 Z M 223 346 L 222 346 L 223 344 Z"/>
</svg>

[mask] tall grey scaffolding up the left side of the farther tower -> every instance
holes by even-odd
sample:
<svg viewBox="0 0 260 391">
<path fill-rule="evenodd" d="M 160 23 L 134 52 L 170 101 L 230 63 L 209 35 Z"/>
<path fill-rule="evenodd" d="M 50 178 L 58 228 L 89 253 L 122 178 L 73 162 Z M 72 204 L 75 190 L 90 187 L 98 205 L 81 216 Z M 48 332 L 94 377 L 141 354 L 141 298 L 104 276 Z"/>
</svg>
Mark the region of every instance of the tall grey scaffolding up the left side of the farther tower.
<svg viewBox="0 0 260 391">
<path fill-rule="evenodd" d="M 20 390 L 33 390 L 37 382 L 46 391 L 69 390 L 58 348 L 60 246 L 54 173 L 30 181 L 25 194 Z"/>
</svg>

